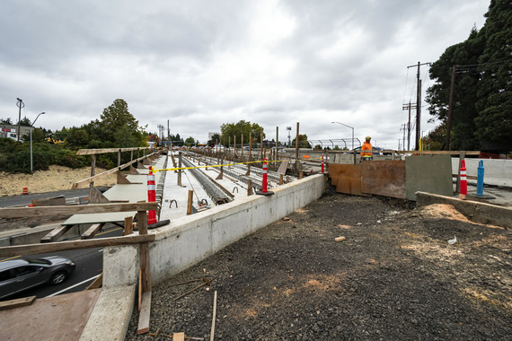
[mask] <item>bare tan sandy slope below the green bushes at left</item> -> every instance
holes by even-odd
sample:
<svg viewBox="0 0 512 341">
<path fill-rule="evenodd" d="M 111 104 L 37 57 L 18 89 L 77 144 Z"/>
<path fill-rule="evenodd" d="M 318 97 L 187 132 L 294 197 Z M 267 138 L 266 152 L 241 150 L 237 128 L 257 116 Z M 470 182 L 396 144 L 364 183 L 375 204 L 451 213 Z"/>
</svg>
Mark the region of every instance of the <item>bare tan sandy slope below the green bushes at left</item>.
<svg viewBox="0 0 512 341">
<path fill-rule="evenodd" d="M 105 171 L 96 168 L 96 174 Z M 23 188 L 29 193 L 47 193 L 61 189 L 71 189 L 76 181 L 91 176 L 91 167 L 71 169 L 62 166 L 49 166 L 49 170 L 36 170 L 33 174 L 10 174 L 0 171 L 0 197 L 21 195 Z M 96 186 L 112 186 L 116 183 L 116 174 L 94 181 Z"/>
</svg>

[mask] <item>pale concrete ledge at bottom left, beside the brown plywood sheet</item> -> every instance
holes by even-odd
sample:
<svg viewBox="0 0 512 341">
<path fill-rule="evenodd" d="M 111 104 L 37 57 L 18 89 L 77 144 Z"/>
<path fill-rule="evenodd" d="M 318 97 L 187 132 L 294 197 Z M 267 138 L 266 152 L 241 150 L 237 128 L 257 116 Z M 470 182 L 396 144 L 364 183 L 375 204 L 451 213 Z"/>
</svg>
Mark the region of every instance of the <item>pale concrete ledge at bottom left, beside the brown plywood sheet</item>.
<svg viewBox="0 0 512 341">
<path fill-rule="evenodd" d="M 103 289 L 80 340 L 124 340 L 133 313 L 135 294 L 136 285 Z"/>
</svg>

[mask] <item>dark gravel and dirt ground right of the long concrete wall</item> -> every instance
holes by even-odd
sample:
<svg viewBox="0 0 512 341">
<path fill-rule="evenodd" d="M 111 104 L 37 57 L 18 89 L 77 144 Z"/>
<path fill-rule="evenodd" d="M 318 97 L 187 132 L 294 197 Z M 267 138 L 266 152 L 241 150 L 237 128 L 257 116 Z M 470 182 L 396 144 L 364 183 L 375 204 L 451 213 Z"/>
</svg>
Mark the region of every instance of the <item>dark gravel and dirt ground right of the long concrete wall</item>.
<svg viewBox="0 0 512 341">
<path fill-rule="evenodd" d="M 328 193 L 154 286 L 150 332 L 208 340 L 510 340 L 512 232 L 449 205 Z M 337 237 L 345 240 L 335 241 Z M 455 240 L 450 244 L 448 240 Z M 207 276 L 201 284 L 179 284 Z"/>
</svg>

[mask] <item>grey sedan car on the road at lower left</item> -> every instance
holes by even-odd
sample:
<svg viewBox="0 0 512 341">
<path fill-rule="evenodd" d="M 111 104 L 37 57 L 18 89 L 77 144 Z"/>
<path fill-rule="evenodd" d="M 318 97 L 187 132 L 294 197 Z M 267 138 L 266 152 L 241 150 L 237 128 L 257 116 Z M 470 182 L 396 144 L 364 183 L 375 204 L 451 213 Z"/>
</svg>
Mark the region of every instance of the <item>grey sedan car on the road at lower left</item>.
<svg viewBox="0 0 512 341">
<path fill-rule="evenodd" d="M 57 285 L 75 271 L 72 260 L 57 256 L 0 262 L 0 300 L 41 284 Z"/>
</svg>

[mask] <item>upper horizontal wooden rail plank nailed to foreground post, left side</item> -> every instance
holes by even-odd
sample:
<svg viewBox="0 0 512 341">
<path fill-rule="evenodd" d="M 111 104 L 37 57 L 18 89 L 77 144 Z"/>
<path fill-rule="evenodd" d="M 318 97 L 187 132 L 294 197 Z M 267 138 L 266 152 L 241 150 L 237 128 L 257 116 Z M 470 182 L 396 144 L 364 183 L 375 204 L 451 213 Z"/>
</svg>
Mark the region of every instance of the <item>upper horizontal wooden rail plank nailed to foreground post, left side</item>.
<svg viewBox="0 0 512 341">
<path fill-rule="evenodd" d="M 100 214 L 110 212 L 130 212 L 156 210 L 158 203 L 64 205 L 45 207 L 0 208 L 0 218 L 34 217 L 47 215 Z"/>
</svg>

